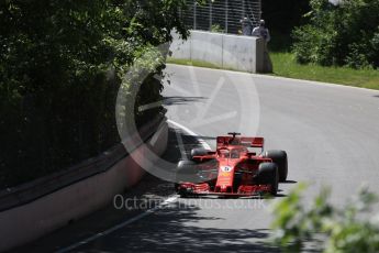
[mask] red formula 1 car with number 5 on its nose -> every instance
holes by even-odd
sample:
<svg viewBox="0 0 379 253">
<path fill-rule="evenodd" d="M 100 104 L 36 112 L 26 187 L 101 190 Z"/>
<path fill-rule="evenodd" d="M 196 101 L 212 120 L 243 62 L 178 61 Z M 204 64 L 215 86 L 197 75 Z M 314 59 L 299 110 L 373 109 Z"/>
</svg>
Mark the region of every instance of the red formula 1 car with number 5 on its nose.
<svg viewBox="0 0 379 253">
<path fill-rule="evenodd" d="M 228 134 L 216 139 L 216 151 L 194 148 L 190 161 L 178 163 L 175 187 L 181 197 L 277 195 L 279 182 L 287 180 L 287 153 L 264 152 L 263 138 Z"/>
</svg>

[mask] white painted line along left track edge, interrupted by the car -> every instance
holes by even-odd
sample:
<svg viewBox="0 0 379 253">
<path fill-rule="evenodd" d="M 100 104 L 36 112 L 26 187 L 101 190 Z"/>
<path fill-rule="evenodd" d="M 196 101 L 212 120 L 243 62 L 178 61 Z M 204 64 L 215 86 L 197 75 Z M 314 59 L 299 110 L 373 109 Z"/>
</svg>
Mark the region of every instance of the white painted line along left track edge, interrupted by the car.
<svg viewBox="0 0 379 253">
<path fill-rule="evenodd" d="M 198 142 L 199 142 L 205 150 L 211 150 L 210 145 L 209 145 L 204 140 L 202 140 L 201 138 L 199 138 L 198 134 L 196 134 L 194 132 L 192 132 L 191 130 L 189 130 L 189 129 L 186 128 L 185 125 L 181 125 L 181 124 L 179 124 L 179 123 L 177 123 L 177 122 L 175 122 L 175 121 L 171 121 L 171 120 L 168 120 L 167 122 L 170 123 L 170 124 L 172 124 L 172 125 L 175 125 L 175 127 L 177 127 L 177 128 L 179 128 L 179 129 L 182 129 L 185 132 L 187 132 L 187 133 L 190 134 L 191 136 L 196 138 L 196 139 L 198 140 Z M 87 238 L 87 239 L 85 239 L 85 240 L 82 240 L 82 241 L 80 241 L 80 242 L 77 242 L 77 243 L 71 244 L 71 245 L 69 245 L 69 246 L 67 246 L 67 248 L 60 249 L 60 250 L 57 251 L 57 253 L 70 252 L 70 251 L 73 251 L 73 250 L 75 250 L 75 249 L 77 249 L 77 248 L 79 248 L 79 246 L 82 246 L 82 245 L 86 245 L 86 244 L 88 244 L 88 243 L 90 243 L 90 242 L 93 242 L 93 241 L 96 241 L 96 240 L 99 239 L 99 238 L 102 238 L 102 237 L 104 237 L 104 235 L 108 235 L 108 234 L 110 234 L 110 233 L 113 233 L 114 231 L 120 230 L 120 229 L 122 229 L 122 228 L 124 228 L 124 227 L 126 227 L 126 226 L 129 226 L 129 224 L 132 224 L 132 223 L 134 223 L 135 221 L 141 220 L 141 219 L 143 219 L 143 218 L 145 218 L 145 217 L 147 217 L 147 216 L 154 213 L 155 211 L 157 211 L 157 210 L 159 210 L 159 209 L 161 209 L 161 208 L 164 208 L 164 207 L 166 207 L 166 206 L 168 206 L 168 205 L 170 205 L 170 204 L 177 201 L 177 199 L 178 199 L 178 197 L 176 197 L 176 196 L 170 196 L 170 197 L 168 197 L 166 200 L 164 200 L 161 204 L 159 204 L 158 206 L 156 206 L 156 207 L 154 207 L 154 208 L 152 208 L 152 209 L 148 209 L 148 210 L 142 212 L 141 215 L 136 216 L 136 217 L 133 217 L 133 218 L 131 218 L 131 219 L 129 219 L 129 220 L 125 220 L 125 221 L 123 221 L 122 223 L 116 224 L 116 226 L 114 226 L 114 227 L 112 227 L 112 228 L 110 228 L 110 229 L 108 229 L 108 230 L 105 230 L 105 231 L 103 231 L 103 232 L 97 233 L 97 234 L 94 234 L 94 235 L 92 235 L 92 237 L 90 237 L 90 238 Z"/>
</svg>

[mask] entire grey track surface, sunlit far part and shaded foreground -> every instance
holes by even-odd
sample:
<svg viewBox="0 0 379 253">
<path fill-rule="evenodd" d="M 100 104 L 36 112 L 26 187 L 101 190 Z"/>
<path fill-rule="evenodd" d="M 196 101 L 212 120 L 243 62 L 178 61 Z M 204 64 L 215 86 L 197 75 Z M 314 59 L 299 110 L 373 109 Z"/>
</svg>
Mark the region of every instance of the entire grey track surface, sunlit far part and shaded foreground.
<svg viewBox="0 0 379 253">
<path fill-rule="evenodd" d="M 337 205 L 363 184 L 379 194 L 378 91 L 176 65 L 167 73 L 170 120 L 213 147 L 214 136 L 238 131 L 288 152 L 282 197 L 299 182 L 311 183 L 310 197 L 333 186 Z M 179 199 L 75 251 L 268 252 L 271 219 L 268 200 Z"/>
</svg>

